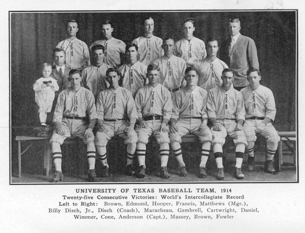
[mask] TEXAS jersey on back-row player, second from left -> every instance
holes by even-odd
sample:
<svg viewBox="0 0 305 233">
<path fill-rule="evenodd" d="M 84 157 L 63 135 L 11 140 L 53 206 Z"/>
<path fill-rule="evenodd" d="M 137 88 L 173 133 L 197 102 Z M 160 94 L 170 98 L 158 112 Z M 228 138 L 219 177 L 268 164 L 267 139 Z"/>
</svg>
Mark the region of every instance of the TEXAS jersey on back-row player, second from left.
<svg viewBox="0 0 305 233">
<path fill-rule="evenodd" d="M 121 64 L 120 54 L 125 54 L 126 44 L 123 41 L 113 37 L 111 37 L 109 40 L 98 40 L 94 41 L 90 45 L 90 53 L 92 47 L 97 44 L 101 44 L 105 48 L 104 62 L 113 68 L 117 68 Z"/>
</svg>

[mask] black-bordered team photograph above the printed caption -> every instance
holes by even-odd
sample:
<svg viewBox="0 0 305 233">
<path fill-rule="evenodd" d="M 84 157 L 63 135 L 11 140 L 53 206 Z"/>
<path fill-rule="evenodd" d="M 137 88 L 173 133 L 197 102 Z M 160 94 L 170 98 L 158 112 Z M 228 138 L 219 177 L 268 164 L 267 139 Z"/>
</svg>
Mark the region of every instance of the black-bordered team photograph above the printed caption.
<svg viewBox="0 0 305 233">
<path fill-rule="evenodd" d="M 11 185 L 298 182 L 296 10 L 9 24 Z"/>
</svg>

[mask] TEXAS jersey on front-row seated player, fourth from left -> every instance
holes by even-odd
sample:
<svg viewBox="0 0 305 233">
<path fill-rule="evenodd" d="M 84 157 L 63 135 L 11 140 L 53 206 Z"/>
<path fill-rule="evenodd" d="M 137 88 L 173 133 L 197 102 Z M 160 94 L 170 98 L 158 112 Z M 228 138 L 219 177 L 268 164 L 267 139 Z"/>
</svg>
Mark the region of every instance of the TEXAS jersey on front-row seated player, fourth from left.
<svg viewBox="0 0 305 233">
<path fill-rule="evenodd" d="M 201 117 L 207 118 L 206 101 L 208 92 L 196 86 L 194 90 L 186 86 L 176 91 L 173 96 L 173 114 L 171 118 Z"/>
</svg>

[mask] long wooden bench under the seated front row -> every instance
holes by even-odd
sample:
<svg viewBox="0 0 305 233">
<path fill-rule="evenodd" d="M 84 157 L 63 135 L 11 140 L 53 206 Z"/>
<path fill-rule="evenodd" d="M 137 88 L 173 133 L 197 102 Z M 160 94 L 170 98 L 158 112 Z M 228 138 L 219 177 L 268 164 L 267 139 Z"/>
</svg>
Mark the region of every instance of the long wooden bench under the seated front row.
<svg viewBox="0 0 305 233">
<path fill-rule="evenodd" d="M 294 147 L 290 147 L 286 141 L 295 141 L 296 140 L 296 132 L 278 132 L 281 140 L 278 143 L 278 150 L 274 155 L 274 166 L 276 171 L 281 171 L 281 165 L 283 164 L 283 142 L 292 150 L 294 153 L 294 165 L 295 165 L 295 157 L 296 157 L 296 149 Z M 44 169 L 45 174 L 48 176 L 52 171 L 52 152 L 51 145 L 49 144 L 49 137 L 30 137 L 30 136 L 16 136 L 16 141 L 18 141 L 18 177 L 21 177 L 21 156 L 27 152 L 32 146 L 33 143 L 42 143 L 42 150 L 44 155 Z M 67 138 L 64 143 L 71 144 L 75 143 L 75 137 Z M 198 140 L 196 135 L 185 135 L 182 137 L 182 142 L 195 142 Z M 30 145 L 23 151 L 21 151 L 21 142 L 29 141 Z M 266 155 L 267 158 L 267 155 Z"/>
</svg>

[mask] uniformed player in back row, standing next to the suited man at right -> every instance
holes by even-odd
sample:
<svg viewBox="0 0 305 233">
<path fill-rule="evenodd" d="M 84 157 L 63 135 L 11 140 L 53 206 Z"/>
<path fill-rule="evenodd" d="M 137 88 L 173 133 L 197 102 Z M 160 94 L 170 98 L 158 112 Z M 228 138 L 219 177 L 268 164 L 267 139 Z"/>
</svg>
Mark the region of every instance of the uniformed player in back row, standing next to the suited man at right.
<svg viewBox="0 0 305 233">
<path fill-rule="evenodd" d="M 183 38 L 175 43 L 174 55 L 183 58 L 187 66 L 195 65 L 206 57 L 204 42 L 193 36 L 195 19 L 188 18 L 182 24 Z"/>
</svg>

